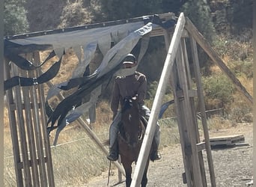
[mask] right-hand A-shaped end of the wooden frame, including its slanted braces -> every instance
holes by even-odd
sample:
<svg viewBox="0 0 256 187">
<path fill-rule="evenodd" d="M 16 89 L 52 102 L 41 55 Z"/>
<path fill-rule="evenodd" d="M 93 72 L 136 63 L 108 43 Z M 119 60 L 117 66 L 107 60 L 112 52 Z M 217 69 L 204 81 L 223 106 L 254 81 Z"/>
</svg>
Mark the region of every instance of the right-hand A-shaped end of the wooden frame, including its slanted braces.
<svg viewBox="0 0 256 187">
<path fill-rule="evenodd" d="M 171 75 L 172 88 L 174 91 L 174 103 L 177 111 L 177 121 L 180 133 L 180 144 L 183 152 L 183 163 L 185 174 L 183 174 L 183 181 L 187 186 L 207 186 L 207 177 L 204 169 L 204 160 L 202 150 L 207 151 L 207 162 L 210 171 L 211 185 L 216 186 L 215 174 L 213 169 L 213 160 L 211 155 L 209 132 L 207 128 L 207 116 L 204 106 L 204 95 L 201 86 L 201 73 L 198 60 L 197 44 L 210 56 L 223 73 L 225 73 L 234 85 L 237 86 L 249 102 L 252 102 L 252 96 L 246 91 L 246 88 L 234 76 L 231 70 L 225 66 L 221 58 L 210 47 L 210 44 L 201 33 L 195 28 L 195 25 L 180 13 L 175 31 L 170 37 L 167 31 L 165 32 L 165 46 L 168 49 L 168 54 L 165 59 L 165 65 L 162 70 L 162 75 L 159 80 L 159 86 L 156 91 L 156 96 L 151 109 L 150 119 L 147 124 L 145 137 L 141 146 L 141 151 L 138 156 L 138 162 L 135 167 L 134 175 L 132 177 L 131 186 L 139 186 L 142 179 L 142 174 L 146 164 L 145 158 L 149 154 L 149 148 L 153 141 L 153 133 L 156 128 L 156 120 L 159 116 L 160 105 L 165 94 L 167 80 Z M 195 70 L 195 82 L 197 90 L 192 89 L 192 79 L 189 70 L 189 61 L 186 49 L 186 40 L 190 40 L 192 50 L 192 64 Z M 170 40 L 170 38 L 172 38 Z M 169 44 L 169 45 L 168 45 Z M 194 97 L 198 97 L 198 102 L 201 111 L 201 120 L 204 129 L 204 142 L 200 142 L 198 133 L 198 123 L 196 120 L 196 111 Z"/>
</svg>

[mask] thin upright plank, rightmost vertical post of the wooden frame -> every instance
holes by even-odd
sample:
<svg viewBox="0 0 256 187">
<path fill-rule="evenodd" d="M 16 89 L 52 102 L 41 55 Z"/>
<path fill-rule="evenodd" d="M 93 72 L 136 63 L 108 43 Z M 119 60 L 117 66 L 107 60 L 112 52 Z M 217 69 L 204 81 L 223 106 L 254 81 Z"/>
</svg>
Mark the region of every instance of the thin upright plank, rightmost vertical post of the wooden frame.
<svg viewBox="0 0 256 187">
<path fill-rule="evenodd" d="M 201 72 L 199 67 L 199 60 L 198 60 L 198 49 L 195 43 L 195 40 L 193 39 L 192 35 L 190 35 L 190 46 L 192 50 L 192 61 L 193 66 L 195 70 L 195 81 L 197 82 L 197 91 L 198 91 L 198 103 L 201 110 L 201 122 L 203 125 L 204 130 L 204 138 L 205 141 L 205 148 L 207 150 L 207 161 L 208 161 L 208 168 L 210 171 L 210 181 L 211 185 L 213 187 L 216 187 L 216 180 L 215 180 L 215 174 L 213 169 L 213 157 L 210 149 L 210 140 L 209 140 L 209 130 L 207 126 L 207 114 L 205 112 L 205 105 L 204 105 L 204 93 L 203 93 L 203 87 L 201 83 Z"/>
</svg>

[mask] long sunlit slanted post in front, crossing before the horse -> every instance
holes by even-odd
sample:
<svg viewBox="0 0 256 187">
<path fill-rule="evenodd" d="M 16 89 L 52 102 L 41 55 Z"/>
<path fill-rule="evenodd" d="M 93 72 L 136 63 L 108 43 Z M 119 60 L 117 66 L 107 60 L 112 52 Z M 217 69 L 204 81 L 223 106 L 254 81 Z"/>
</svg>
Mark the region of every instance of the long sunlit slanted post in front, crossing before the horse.
<svg viewBox="0 0 256 187">
<path fill-rule="evenodd" d="M 153 101 L 150 118 L 148 120 L 145 136 L 142 141 L 141 150 L 138 155 L 138 162 L 135 166 L 135 171 L 132 177 L 131 186 L 139 186 L 139 184 L 141 183 L 142 174 L 147 162 L 146 158 L 149 155 L 149 151 L 150 151 L 149 147 L 152 144 L 153 134 L 156 129 L 156 120 L 158 119 L 161 102 L 162 102 L 163 96 L 165 95 L 167 81 L 168 81 L 168 78 L 170 77 L 171 69 L 174 64 L 174 58 L 177 52 L 177 46 L 180 42 L 181 34 L 183 33 L 183 28 L 185 24 L 184 18 L 185 18 L 184 14 L 180 13 L 180 17 L 177 21 L 177 25 L 174 30 L 174 37 L 173 37 L 173 40 L 171 40 L 171 44 L 168 49 L 168 54 L 165 59 L 165 64 L 162 70 L 162 75 L 159 80 L 158 88 L 156 90 L 156 96 Z"/>
</svg>

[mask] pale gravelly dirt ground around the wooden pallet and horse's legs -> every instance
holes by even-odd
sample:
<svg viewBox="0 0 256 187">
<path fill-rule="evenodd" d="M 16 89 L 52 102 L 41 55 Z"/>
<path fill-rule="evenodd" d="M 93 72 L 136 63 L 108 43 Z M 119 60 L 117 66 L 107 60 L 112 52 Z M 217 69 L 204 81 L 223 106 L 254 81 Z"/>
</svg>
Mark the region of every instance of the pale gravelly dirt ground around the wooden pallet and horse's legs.
<svg viewBox="0 0 256 187">
<path fill-rule="evenodd" d="M 234 146 L 212 149 L 213 167 L 216 177 L 216 186 L 246 186 L 253 175 L 252 165 L 252 142 L 253 142 L 253 125 L 239 124 L 230 129 L 219 131 L 210 131 L 210 138 L 225 135 L 244 135 L 245 142 L 249 145 Z M 180 150 L 180 144 L 165 147 L 161 150 L 162 159 L 156 162 L 150 162 L 147 172 L 147 186 L 186 186 L 183 184 L 182 174 L 183 156 Z M 203 151 L 204 167 L 207 172 L 207 186 L 210 185 L 208 172 L 207 153 Z M 134 170 L 135 165 L 133 166 Z M 109 172 L 103 172 L 99 177 L 92 178 L 85 186 L 99 187 L 108 186 Z M 122 183 L 118 183 L 118 170 L 113 168 L 109 178 L 109 186 L 125 186 L 125 178 Z M 84 187 L 84 186 L 83 186 Z"/>
</svg>

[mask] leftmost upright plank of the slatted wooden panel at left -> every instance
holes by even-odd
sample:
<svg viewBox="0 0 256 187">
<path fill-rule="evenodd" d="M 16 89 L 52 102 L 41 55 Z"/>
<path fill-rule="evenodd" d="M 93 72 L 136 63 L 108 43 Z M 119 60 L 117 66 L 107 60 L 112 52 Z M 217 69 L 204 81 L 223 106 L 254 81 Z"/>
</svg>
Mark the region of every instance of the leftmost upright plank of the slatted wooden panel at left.
<svg viewBox="0 0 256 187">
<path fill-rule="evenodd" d="M 10 79 L 10 69 L 7 58 L 4 58 L 4 79 Z M 13 67 L 13 64 L 10 64 Z M 7 103 L 13 103 L 13 89 L 7 90 Z M 17 132 L 17 124 L 16 124 L 16 114 L 15 111 L 10 110 L 8 107 L 8 115 L 10 120 L 10 135 L 13 142 L 13 159 L 15 166 L 15 174 L 16 174 L 16 185 L 18 187 L 23 186 L 23 177 L 22 171 L 18 168 L 18 163 L 21 162 L 20 153 L 19 153 L 19 141 L 18 141 L 18 132 Z"/>
</svg>

